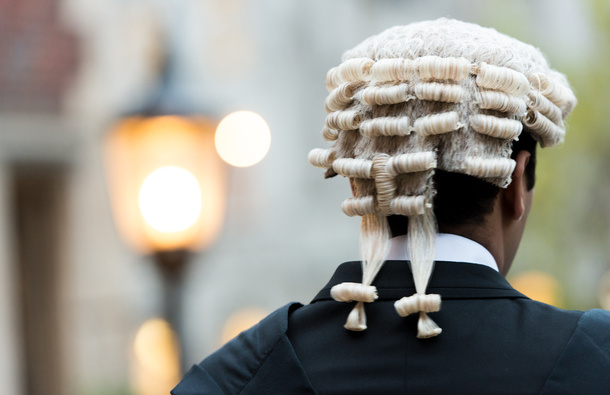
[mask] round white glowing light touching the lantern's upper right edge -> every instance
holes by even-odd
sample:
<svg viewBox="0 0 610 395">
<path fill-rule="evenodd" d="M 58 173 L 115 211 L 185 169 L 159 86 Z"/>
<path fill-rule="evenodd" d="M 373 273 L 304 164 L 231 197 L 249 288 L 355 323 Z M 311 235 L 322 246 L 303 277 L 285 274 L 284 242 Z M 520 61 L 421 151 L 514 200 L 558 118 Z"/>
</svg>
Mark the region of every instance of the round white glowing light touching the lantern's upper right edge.
<svg viewBox="0 0 610 395">
<path fill-rule="evenodd" d="M 248 167 L 260 162 L 269 152 L 271 131 L 257 113 L 236 111 L 220 121 L 215 140 L 216 150 L 225 162 Z"/>
</svg>

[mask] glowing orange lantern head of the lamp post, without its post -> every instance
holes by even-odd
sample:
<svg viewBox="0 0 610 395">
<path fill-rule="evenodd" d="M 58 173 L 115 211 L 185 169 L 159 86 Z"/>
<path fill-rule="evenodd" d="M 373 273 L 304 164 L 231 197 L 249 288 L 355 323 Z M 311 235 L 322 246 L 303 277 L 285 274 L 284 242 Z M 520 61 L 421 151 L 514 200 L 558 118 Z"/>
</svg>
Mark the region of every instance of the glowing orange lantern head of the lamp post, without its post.
<svg viewBox="0 0 610 395">
<path fill-rule="evenodd" d="M 226 165 L 214 125 L 177 116 L 129 118 L 108 135 L 106 170 L 113 214 L 138 250 L 197 250 L 224 219 Z"/>
</svg>

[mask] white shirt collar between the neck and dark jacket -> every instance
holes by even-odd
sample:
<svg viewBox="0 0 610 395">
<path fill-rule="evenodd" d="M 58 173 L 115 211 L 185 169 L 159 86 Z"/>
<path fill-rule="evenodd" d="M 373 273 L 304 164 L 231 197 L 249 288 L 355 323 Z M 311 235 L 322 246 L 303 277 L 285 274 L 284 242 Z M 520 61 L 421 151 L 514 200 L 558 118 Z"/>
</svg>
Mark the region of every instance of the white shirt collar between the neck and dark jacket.
<svg viewBox="0 0 610 395">
<path fill-rule="evenodd" d="M 390 239 L 387 260 L 408 261 L 411 257 L 407 247 L 407 236 Z M 498 264 L 491 253 L 476 241 L 449 233 L 436 235 L 435 261 L 466 262 L 484 265 L 498 270 Z"/>
</svg>

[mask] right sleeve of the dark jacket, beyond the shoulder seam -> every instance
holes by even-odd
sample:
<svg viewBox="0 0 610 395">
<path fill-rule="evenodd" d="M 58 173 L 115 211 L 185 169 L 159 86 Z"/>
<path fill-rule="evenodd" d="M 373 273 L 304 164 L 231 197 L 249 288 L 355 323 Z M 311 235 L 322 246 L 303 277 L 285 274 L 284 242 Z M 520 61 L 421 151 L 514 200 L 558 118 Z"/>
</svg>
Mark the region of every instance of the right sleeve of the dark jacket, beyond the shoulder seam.
<svg viewBox="0 0 610 395">
<path fill-rule="evenodd" d="M 610 312 L 585 312 L 541 393 L 603 393 L 610 388 Z"/>
</svg>

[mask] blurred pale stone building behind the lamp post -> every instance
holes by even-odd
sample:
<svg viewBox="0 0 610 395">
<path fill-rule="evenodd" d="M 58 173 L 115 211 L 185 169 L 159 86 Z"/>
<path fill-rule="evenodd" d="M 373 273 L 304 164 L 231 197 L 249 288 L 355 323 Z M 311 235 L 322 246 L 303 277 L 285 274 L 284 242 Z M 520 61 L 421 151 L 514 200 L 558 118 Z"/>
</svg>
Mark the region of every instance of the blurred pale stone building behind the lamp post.
<svg viewBox="0 0 610 395">
<path fill-rule="evenodd" d="M 151 94 L 162 46 L 177 59 L 181 97 L 218 120 L 256 111 L 272 131 L 261 163 L 231 171 L 224 230 L 188 267 L 192 364 L 265 312 L 308 302 L 337 264 L 358 259 L 358 220 L 339 210 L 347 181 L 323 182 L 306 160 L 323 144 L 326 71 L 371 34 L 440 16 L 532 42 L 562 70 L 593 56 L 588 3 L 575 0 L 0 0 L 4 392 L 136 390 L 134 340 L 160 313 L 160 281 L 115 231 L 101 144 Z M 545 239 L 530 235 L 517 259 L 541 269 L 527 262 Z M 582 290 L 610 255 L 596 251 L 576 276 L 554 272 L 579 281 L 580 294 L 565 292 L 576 307 L 594 303 L 595 287 Z"/>
</svg>

